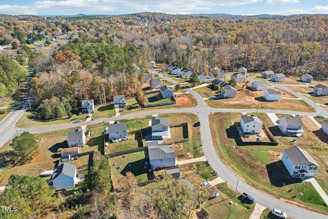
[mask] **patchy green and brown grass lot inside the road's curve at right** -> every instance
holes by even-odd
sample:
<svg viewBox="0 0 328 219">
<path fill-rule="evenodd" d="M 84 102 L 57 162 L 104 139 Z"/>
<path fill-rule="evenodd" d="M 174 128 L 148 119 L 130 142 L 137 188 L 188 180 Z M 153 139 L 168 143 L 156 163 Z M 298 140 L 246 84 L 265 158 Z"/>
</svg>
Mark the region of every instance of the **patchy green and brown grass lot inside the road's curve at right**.
<svg viewBox="0 0 328 219">
<path fill-rule="evenodd" d="M 214 145 L 222 162 L 257 189 L 268 192 L 277 198 L 283 197 L 290 203 L 327 213 L 324 201 L 312 184 L 301 182 L 298 178 L 291 178 L 280 161 L 283 149 L 294 146 L 293 143 L 290 143 L 290 137 L 275 136 L 279 142 L 278 146 L 236 146 L 235 130 L 232 125 L 233 122 L 240 120 L 240 115 L 240 113 L 215 113 L 210 116 L 210 120 L 213 121 L 211 130 Z M 263 119 L 266 121 L 268 118 L 265 118 L 263 114 L 261 115 L 262 122 Z M 271 127 L 271 124 L 267 125 Z M 304 128 L 307 132 L 306 127 Z M 311 135 L 311 131 L 306 135 L 308 136 L 302 137 L 301 143 L 298 144 L 299 147 L 313 142 L 315 136 Z M 325 163 L 317 160 L 316 155 L 309 148 L 306 150 L 323 169 L 326 167 Z M 324 156 L 323 153 L 319 154 Z M 328 180 L 327 176 L 322 175 L 321 177 Z"/>
</svg>

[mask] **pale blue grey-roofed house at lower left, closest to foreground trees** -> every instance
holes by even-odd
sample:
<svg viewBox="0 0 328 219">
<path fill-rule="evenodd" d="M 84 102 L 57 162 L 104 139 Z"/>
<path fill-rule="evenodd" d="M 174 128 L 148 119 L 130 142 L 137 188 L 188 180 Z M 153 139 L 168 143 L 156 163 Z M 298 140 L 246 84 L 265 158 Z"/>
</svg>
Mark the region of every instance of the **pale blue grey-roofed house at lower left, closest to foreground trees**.
<svg viewBox="0 0 328 219">
<path fill-rule="evenodd" d="M 64 163 L 53 170 L 50 186 L 55 190 L 63 190 L 74 188 L 76 182 L 76 166 Z"/>
</svg>

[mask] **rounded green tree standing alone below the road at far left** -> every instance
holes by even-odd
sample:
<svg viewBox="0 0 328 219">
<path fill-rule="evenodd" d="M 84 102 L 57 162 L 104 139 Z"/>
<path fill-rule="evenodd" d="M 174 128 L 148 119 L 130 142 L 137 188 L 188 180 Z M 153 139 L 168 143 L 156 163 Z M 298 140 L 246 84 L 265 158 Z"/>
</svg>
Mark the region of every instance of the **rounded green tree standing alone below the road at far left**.
<svg viewBox="0 0 328 219">
<path fill-rule="evenodd" d="M 38 144 L 34 135 L 26 131 L 16 135 L 9 146 L 14 149 L 15 158 L 22 164 L 31 161 L 38 153 Z"/>
</svg>

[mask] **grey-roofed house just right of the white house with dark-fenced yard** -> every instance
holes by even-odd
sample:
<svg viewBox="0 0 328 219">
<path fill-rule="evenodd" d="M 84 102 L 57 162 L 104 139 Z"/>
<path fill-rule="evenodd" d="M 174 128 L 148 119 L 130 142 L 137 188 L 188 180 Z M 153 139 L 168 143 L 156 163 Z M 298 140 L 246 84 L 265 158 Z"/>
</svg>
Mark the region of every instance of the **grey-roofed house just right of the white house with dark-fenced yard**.
<svg viewBox="0 0 328 219">
<path fill-rule="evenodd" d="M 281 116 L 278 127 L 282 133 L 289 136 L 302 136 L 304 134 L 301 117 Z"/>
</svg>

